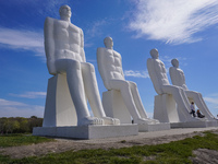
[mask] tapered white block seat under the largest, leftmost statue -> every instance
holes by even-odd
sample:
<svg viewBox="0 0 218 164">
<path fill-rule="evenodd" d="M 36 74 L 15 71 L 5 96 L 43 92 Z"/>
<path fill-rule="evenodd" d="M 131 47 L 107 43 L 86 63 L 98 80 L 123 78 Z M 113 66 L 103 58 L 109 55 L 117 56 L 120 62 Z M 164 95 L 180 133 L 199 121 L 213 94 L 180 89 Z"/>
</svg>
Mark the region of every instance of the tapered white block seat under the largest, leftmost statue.
<svg viewBox="0 0 218 164">
<path fill-rule="evenodd" d="M 77 126 L 77 116 L 72 102 L 65 74 L 48 80 L 43 127 Z"/>
</svg>

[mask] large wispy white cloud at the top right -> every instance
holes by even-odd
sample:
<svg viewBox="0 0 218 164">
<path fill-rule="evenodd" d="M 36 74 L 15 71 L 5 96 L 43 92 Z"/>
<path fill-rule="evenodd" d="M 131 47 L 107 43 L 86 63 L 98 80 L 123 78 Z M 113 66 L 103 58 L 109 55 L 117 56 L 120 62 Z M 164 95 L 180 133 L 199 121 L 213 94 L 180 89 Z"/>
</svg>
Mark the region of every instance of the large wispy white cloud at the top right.
<svg viewBox="0 0 218 164">
<path fill-rule="evenodd" d="M 195 33 L 218 23 L 217 0 L 135 0 L 130 30 L 169 44 L 198 42 Z"/>
</svg>

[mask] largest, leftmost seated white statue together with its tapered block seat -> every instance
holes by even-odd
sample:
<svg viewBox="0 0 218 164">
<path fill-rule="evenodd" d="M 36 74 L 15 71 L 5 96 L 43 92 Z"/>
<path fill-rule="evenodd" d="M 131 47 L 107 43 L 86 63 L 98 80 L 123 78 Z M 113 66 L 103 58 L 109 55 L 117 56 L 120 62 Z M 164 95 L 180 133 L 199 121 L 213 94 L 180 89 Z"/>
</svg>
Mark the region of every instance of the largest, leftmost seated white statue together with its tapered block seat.
<svg viewBox="0 0 218 164">
<path fill-rule="evenodd" d="M 62 5 L 60 20 L 45 21 L 48 83 L 44 127 L 119 125 L 106 117 L 94 66 L 86 62 L 83 31 L 71 23 L 71 8 Z M 89 102 L 94 117 L 87 107 Z"/>
</svg>

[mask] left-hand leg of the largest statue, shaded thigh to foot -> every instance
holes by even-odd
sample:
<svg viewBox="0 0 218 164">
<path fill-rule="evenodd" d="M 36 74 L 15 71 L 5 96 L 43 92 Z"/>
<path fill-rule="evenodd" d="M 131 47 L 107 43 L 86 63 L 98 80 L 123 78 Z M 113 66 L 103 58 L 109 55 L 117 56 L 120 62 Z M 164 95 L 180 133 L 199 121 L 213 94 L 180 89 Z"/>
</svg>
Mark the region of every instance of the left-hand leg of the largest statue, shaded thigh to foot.
<svg viewBox="0 0 218 164">
<path fill-rule="evenodd" d="M 60 59 L 56 61 L 56 68 L 60 73 L 66 73 L 69 90 L 77 115 L 77 126 L 102 125 L 101 119 L 90 117 L 88 112 L 81 63 L 75 60 Z"/>
</svg>

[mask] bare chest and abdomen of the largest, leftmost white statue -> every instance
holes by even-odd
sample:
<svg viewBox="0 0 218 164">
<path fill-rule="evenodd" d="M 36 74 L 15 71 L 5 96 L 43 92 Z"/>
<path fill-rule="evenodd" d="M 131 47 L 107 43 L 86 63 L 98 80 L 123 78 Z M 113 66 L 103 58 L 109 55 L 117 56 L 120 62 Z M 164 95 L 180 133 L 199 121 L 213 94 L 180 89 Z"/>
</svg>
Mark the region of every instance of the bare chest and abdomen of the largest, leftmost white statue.
<svg viewBox="0 0 218 164">
<path fill-rule="evenodd" d="M 55 20 L 53 39 L 56 59 L 81 59 L 82 30 L 70 22 Z"/>
</svg>

